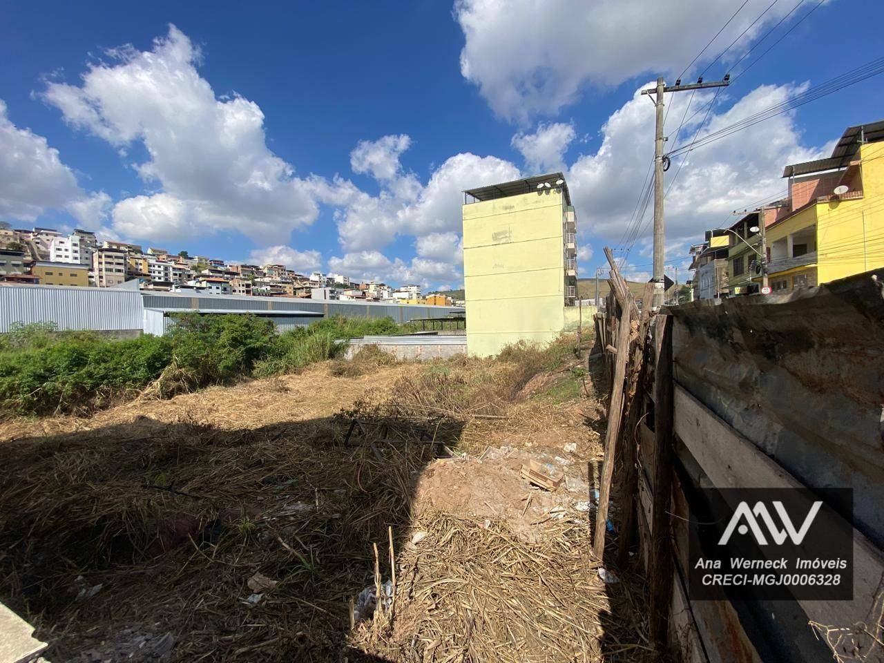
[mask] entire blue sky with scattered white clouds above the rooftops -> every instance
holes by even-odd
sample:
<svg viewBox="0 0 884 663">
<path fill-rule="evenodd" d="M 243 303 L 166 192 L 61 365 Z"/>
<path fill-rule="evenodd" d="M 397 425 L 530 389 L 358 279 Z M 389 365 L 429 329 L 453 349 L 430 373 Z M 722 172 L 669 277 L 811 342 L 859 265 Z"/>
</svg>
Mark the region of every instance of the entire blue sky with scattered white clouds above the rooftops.
<svg viewBox="0 0 884 663">
<path fill-rule="evenodd" d="M 623 237 L 653 149 L 652 105 L 636 89 L 658 72 L 673 80 L 740 4 L 7 5 L 0 218 L 458 287 L 458 192 L 561 169 L 582 275 L 612 245 L 631 246 L 643 277 L 650 224 Z M 796 0 L 750 0 L 685 79 L 739 73 L 817 4 L 775 27 Z M 821 4 L 670 140 L 880 57 L 881 13 L 872 0 Z M 667 133 L 712 94 L 686 116 L 690 94 L 674 99 Z M 880 119 L 882 101 L 873 78 L 692 152 L 667 196 L 667 260 L 683 270 L 706 228 L 775 198 L 783 165 Z"/>
</svg>

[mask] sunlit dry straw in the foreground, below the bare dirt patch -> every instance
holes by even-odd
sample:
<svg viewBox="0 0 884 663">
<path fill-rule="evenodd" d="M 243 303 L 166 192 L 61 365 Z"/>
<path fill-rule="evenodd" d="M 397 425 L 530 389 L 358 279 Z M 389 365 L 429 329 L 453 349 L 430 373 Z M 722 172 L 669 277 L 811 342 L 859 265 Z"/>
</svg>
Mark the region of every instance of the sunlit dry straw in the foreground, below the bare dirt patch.
<svg viewBox="0 0 884 663">
<path fill-rule="evenodd" d="M 365 622 L 353 642 L 385 660 L 652 660 L 636 642 L 641 613 L 621 589 L 614 619 L 586 528 L 561 522 L 542 543 L 526 543 L 501 522 L 427 514 L 425 535 L 398 558 L 396 604 Z"/>
</svg>

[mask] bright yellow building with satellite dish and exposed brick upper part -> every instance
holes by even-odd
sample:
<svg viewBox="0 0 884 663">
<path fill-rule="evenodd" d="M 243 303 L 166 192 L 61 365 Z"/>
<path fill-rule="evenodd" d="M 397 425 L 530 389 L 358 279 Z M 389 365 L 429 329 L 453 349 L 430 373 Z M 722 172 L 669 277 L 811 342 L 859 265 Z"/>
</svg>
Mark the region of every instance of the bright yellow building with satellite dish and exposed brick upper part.
<svg viewBox="0 0 884 663">
<path fill-rule="evenodd" d="M 884 267 L 882 141 L 884 121 L 851 126 L 829 158 L 786 167 L 790 210 L 766 228 L 773 292 Z"/>
</svg>

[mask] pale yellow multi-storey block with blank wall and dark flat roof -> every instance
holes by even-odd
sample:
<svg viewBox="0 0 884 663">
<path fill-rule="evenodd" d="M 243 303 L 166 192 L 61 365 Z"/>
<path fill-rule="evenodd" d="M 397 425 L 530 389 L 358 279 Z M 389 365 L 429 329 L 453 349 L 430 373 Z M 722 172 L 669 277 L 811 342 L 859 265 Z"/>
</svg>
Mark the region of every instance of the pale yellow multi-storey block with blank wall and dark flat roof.
<svg viewBox="0 0 884 663">
<path fill-rule="evenodd" d="M 467 351 L 545 344 L 577 293 L 576 219 L 560 172 L 464 192 Z"/>
</svg>

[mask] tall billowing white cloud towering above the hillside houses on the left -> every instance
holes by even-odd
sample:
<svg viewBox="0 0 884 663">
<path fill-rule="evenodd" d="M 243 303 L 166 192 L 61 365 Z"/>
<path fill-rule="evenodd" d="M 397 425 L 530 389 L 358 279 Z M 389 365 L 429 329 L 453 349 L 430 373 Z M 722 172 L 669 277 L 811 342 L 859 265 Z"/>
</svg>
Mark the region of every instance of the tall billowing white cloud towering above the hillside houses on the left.
<svg viewBox="0 0 884 663">
<path fill-rule="evenodd" d="M 215 95 L 198 72 L 199 49 L 177 27 L 150 50 L 126 46 L 106 57 L 79 85 L 50 82 L 42 97 L 72 126 L 120 149 L 146 149 L 133 168 L 161 191 L 118 203 L 116 230 L 146 240 L 237 230 L 272 243 L 313 222 L 313 185 L 267 147 L 261 109 Z"/>
</svg>

